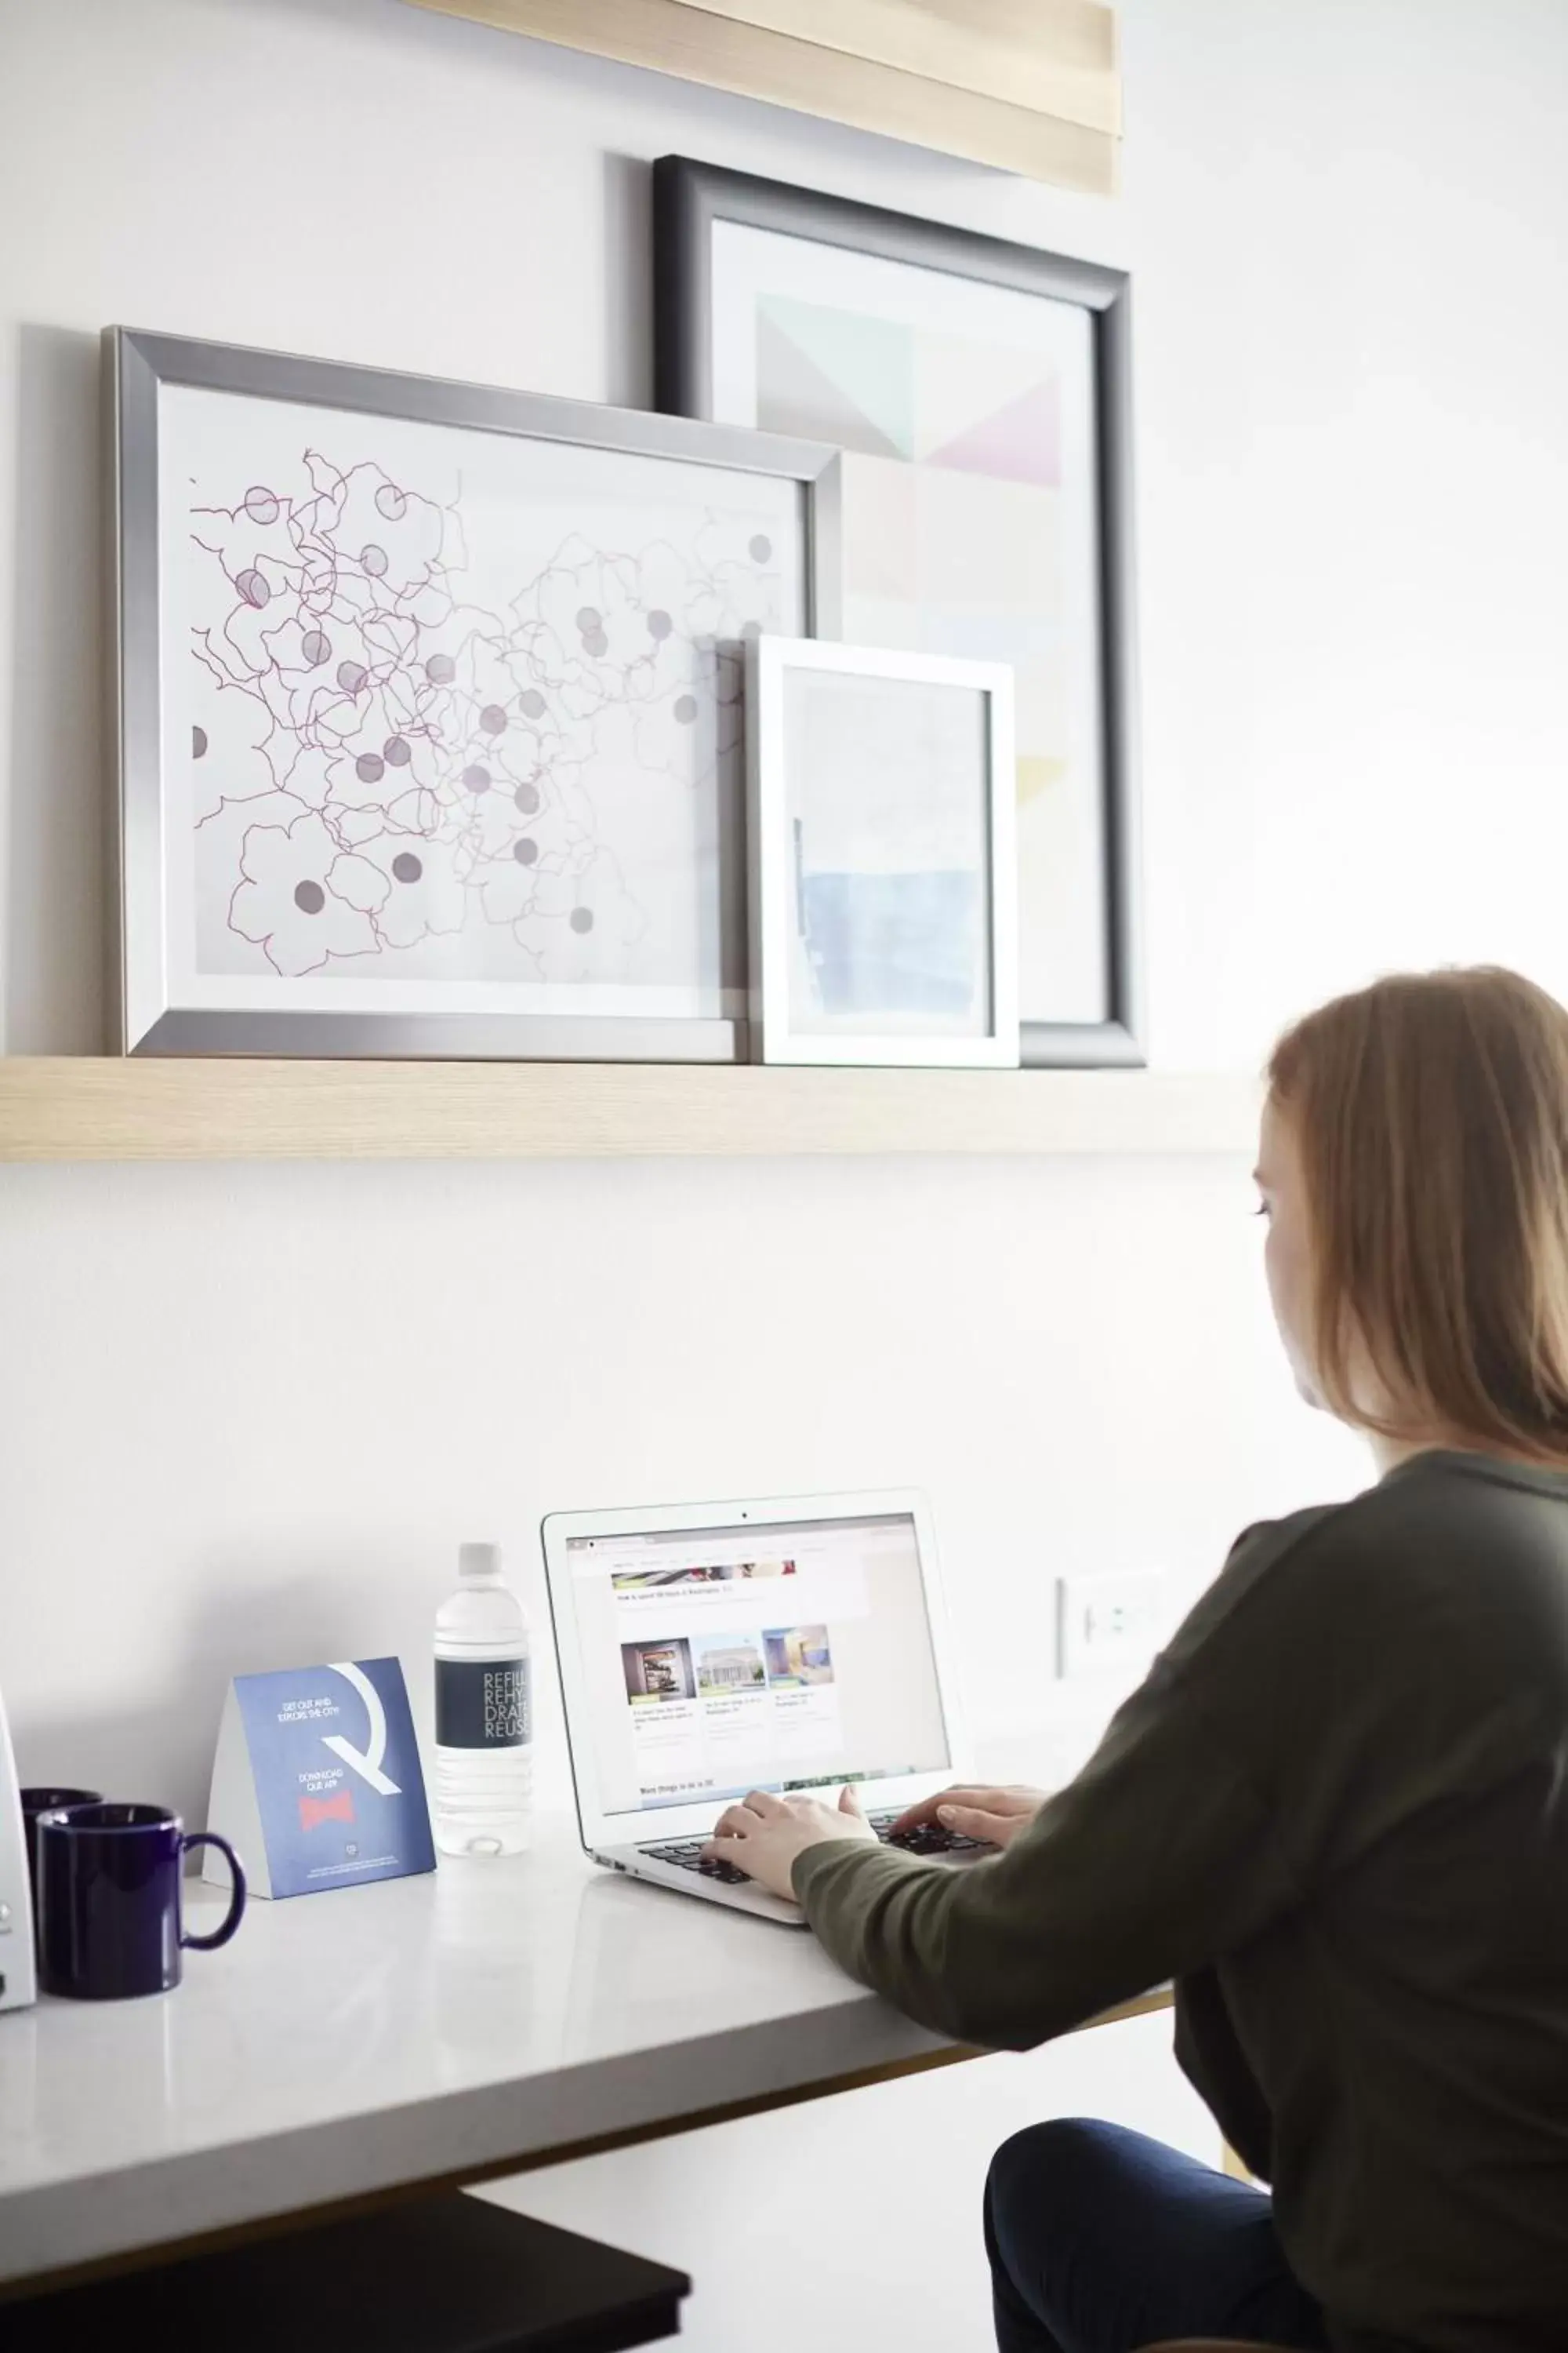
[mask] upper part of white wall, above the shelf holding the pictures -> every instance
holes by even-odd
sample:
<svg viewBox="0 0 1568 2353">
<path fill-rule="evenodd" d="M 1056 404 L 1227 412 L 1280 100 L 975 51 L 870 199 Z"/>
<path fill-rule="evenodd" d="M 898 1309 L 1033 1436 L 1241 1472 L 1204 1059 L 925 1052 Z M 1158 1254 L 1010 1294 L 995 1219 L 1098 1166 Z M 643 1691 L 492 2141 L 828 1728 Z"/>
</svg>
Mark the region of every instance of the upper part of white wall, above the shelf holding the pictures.
<svg viewBox="0 0 1568 2353">
<path fill-rule="evenodd" d="M 1121 19 L 1105 202 L 395 0 L 0 0 L 9 1049 L 101 1028 L 99 327 L 637 402 L 663 151 L 1138 273 L 1164 1061 L 1253 1061 L 1389 960 L 1512 955 L 1568 986 L 1568 19 Z"/>
</svg>

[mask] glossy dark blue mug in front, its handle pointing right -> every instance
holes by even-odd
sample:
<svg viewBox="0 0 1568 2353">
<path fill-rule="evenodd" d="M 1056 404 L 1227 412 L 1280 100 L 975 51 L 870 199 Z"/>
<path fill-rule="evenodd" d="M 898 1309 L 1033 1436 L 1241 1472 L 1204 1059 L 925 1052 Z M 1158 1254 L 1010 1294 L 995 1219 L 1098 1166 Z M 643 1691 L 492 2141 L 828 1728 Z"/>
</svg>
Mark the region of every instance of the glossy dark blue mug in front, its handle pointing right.
<svg viewBox="0 0 1568 2353">
<path fill-rule="evenodd" d="M 115 2002 L 179 1986 L 181 1951 L 228 1944 L 244 1913 L 244 1871 L 226 1838 L 188 1833 L 162 1805 L 66 1805 L 40 1814 L 38 1984 L 78 2002 Z M 212 1937 L 181 1925 L 190 1847 L 228 1857 L 233 1894 Z"/>
</svg>

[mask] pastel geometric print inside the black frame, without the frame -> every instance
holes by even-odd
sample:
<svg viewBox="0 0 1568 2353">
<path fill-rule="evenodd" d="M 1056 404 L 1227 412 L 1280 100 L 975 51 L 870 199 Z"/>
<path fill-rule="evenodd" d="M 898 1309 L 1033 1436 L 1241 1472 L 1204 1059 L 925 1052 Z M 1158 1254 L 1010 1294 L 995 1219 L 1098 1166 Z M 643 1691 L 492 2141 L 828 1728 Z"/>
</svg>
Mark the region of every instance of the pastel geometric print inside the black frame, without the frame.
<svg viewBox="0 0 1568 2353">
<path fill-rule="evenodd" d="M 844 635 L 1013 668 L 1023 1007 L 1103 1019 L 1084 889 L 1098 802 L 1074 755 L 1084 485 L 1065 487 L 1084 459 L 1070 454 L 1081 426 L 1065 431 L 1060 339 L 1009 344 L 771 287 L 755 289 L 752 336 L 755 424 L 844 452 Z"/>
</svg>

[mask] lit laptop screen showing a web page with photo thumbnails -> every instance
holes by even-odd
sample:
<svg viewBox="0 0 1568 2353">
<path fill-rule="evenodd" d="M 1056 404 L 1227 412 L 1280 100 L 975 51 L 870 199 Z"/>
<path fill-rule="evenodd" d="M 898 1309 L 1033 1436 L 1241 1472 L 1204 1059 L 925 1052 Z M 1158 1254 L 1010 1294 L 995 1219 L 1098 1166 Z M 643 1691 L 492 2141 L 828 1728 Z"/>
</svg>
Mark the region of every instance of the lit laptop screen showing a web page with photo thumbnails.
<svg viewBox="0 0 1568 2353">
<path fill-rule="evenodd" d="M 607 1814 L 947 1767 L 907 1513 L 571 1537 L 567 1572 Z"/>
</svg>

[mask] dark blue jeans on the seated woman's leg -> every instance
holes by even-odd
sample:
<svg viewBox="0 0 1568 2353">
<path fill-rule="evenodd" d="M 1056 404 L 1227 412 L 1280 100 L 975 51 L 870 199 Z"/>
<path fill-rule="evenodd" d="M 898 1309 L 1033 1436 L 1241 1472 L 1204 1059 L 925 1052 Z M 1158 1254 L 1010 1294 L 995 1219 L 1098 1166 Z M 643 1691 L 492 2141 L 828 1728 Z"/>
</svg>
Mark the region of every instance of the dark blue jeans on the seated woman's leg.
<svg viewBox="0 0 1568 2353">
<path fill-rule="evenodd" d="M 1034 2125 L 985 2184 L 1001 2353 L 1135 2353 L 1166 2337 L 1326 2346 L 1262 2191 L 1121 2125 Z"/>
</svg>

